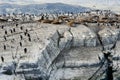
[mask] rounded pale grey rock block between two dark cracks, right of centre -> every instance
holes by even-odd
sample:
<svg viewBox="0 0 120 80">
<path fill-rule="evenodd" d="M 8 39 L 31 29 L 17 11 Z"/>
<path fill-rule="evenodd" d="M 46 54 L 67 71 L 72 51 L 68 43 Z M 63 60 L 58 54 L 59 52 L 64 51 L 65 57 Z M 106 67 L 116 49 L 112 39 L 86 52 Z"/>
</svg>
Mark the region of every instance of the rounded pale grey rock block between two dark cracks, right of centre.
<svg viewBox="0 0 120 80">
<path fill-rule="evenodd" d="M 97 46 L 96 34 L 84 25 L 79 25 L 76 28 L 72 28 L 73 33 L 73 46 Z"/>
</svg>

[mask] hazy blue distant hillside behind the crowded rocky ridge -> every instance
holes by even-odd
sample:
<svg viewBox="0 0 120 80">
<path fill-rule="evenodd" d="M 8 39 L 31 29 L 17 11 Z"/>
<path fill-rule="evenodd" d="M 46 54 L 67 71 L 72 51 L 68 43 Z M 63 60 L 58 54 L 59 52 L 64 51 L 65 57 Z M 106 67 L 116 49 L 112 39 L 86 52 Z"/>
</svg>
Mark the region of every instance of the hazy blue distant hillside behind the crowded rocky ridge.
<svg viewBox="0 0 120 80">
<path fill-rule="evenodd" d="M 17 4 L 0 4 L 0 14 L 5 13 L 54 13 L 54 12 L 84 12 L 90 10 L 82 6 L 74 6 L 63 3 L 46 3 L 46 4 L 30 4 L 30 5 L 17 5 Z"/>
</svg>

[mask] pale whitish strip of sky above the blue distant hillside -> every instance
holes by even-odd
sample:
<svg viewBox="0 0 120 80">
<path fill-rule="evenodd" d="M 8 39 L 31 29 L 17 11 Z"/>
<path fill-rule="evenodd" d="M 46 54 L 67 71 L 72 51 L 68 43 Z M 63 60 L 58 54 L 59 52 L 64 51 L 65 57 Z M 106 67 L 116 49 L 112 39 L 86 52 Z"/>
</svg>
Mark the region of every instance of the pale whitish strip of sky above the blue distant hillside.
<svg viewBox="0 0 120 80">
<path fill-rule="evenodd" d="M 67 3 L 73 5 L 120 5 L 120 0 L 0 0 L 0 3 L 14 4 L 41 4 L 41 3 Z"/>
</svg>

